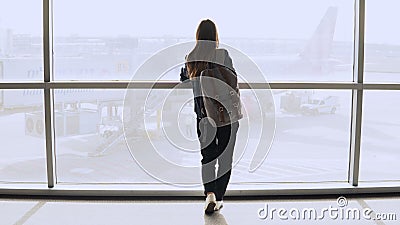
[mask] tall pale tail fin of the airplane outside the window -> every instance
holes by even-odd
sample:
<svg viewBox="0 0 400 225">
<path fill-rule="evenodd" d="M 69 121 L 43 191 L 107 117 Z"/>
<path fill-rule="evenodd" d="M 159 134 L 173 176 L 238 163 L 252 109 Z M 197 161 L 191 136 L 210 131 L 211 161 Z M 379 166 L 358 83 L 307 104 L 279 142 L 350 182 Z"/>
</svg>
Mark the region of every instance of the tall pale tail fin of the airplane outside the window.
<svg viewBox="0 0 400 225">
<path fill-rule="evenodd" d="M 329 58 L 335 34 L 337 7 L 331 6 L 326 11 L 310 41 L 300 57 L 308 60 L 323 60 Z"/>
</svg>

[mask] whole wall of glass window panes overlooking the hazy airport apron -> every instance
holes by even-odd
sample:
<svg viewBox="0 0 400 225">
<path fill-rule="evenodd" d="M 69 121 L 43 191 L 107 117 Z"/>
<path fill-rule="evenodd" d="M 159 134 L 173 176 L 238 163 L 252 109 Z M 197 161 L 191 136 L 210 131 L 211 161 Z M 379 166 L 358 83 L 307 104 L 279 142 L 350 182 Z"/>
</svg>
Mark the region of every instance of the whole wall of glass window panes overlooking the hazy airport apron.
<svg viewBox="0 0 400 225">
<path fill-rule="evenodd" d="M 20 2 L 0 1 L 5 6 L 0 9 L 0 83 L 44 83 L 42 2 L 24 0 L 21 8 Z M 50 113 L 54 118 L 59 184 L 140 186 L 164 184 L 163 180 L 199 184 L 201 156 L 193 104 L 188 100 L 192 97 L 190 89 L 155 89 L 148 94 L 146 89 L 61 86 L 71 85 L 69 81 L 100 81 L 91 84 L 103 85 L 108 83 L 101 81 L 130 80 L 154 53 L 194 41 L 195 29 L 205 17 L 217 23 L 223 44 L 254 60 L 267 82 L 353 82 L 354 1 L 267 0 L 245 4 L 206 0 L 197 10 L 187 10 L 187 1 L 183 0 L 140 4 L 128 0 L 53 2 L 52 81 L 67 82 L 50 81 L 47 86 L 54 90 L 54 112 Z M 313 10 L 309 10 L 310 5 Z M 395 0 L 385 4 L 366 0 L 367 83 L 399 81 L 398 32 L 382 26 L 395 20 L 397 13 L 392 10 L 396 6 Z M 240 76 L 259 82 L 254 74 L 243 72 L 241 62 L 235 61 L 234 53 L 232 56 Z M 164 71 L 161 79 L 178 81 L 181 65 Z M 134 80 L 154 81 L 160 75 Z M 54 84 L 61 86 L 52 87 Z M 0 90 L 0 183 L 47 181 L 44 86 L 35 89 L 38 86 L 33 85 L 21 83 L 20 89 Z M 246 132 L 251 134 L 253 128 L 265 128 L 265 124 L 254 122 L 261 118 L 254 116 L 257 107 L 249 97 L 253 90 L 241 91 L 247 111 L 239 135 L 246 138 L 237 142 L 232 183 L 346 183 L 351 164 L 351 88 L 282 88 L 272 90 L 273 99 L 261 104 L 265 111 L 259 116 L 269 122 L 267 130 L 275 123 L 276 129 L 268 133 L 274 135 L 274 142 L 267 158 L 252 172 L 249 168 L 254 152 L 243 149 L 253 148 L 256 138 L 246 136 Z M 127 98 L 129 93 L 133 95 Z M 400 121 L 396 115 L 400 108 L 393 102 L 400 98 L 399 93 L 364 93 L 360 181 L 398 181 Z M 166 96 L 168 101 L 163 99 Z M 256 126 L 250 128 L 249 124 Z M 195 169 L 177 172 L 159 164 L 154 153 L 168 163 Z"/>
</svg>

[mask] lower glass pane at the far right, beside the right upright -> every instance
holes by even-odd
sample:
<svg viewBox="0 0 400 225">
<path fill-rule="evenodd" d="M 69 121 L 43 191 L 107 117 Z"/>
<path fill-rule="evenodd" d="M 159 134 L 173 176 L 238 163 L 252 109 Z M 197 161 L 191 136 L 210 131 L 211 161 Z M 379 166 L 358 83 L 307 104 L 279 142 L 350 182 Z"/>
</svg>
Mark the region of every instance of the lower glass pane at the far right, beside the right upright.
<svg viewBox="0 0 400 225">
<path fill-rule="evenodd" d="M 399 180 L 399 91 L 366 91 L 361 137 L 361 181 Z"/>
</svg>

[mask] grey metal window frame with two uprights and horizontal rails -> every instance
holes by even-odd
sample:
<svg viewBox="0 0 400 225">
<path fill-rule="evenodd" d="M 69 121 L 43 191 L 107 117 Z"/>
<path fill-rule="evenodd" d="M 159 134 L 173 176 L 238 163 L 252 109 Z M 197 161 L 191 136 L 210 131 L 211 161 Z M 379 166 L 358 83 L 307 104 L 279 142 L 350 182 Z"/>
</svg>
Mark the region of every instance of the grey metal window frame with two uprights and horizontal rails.
<svg viewBox="0 0 400 225">
<path fill-rule="evenodd" d="M 275 185 L 265 189 L 240 190 L 240 186 L 233 187 L 228 195 L 304 195 L 304 194 L 337 194 L 337 193 L 377 193 L 377 192 L 399 192 L 400 181 L 393 184 L 359 184 L 359 167 L 361 153 L 361 126 L 364 90 L 400 90 L 400 84 L 368 83 L 364 84 L 364 45 L 365 45 L 365 1 L 354 0 L 354 60 L 353 60 L 353 82 L 272 82 L 272 83 L 240 83 L 241 89 L 320 89 L 320 90 L 351 90 L 351 132 L 350 132 L 350 155 L 348 167 L 347 184 L 299 184 L 287 186 L 287 184 Z M 54 135 L 54 90 L 56 89 L 172 89 L 179 82 L 128 82 L 128 81 L 53 81 L 53 7 L 52 0 L 43 0 L 43 65 L 44 80 L 42 82 L 0 82 L 0 89 L 40 89 L 44 91 L 44 116 L 45 116 L 45 141 L 46 141 L 46 166 L 47 187 L 23 185 L 24 188 L 15 188 L 15 185 L 5 184 L 0 186 L 3 194 L 46 194 L 46 195 L 165 195 L 165 196 L 198 196 L 197 190 L 177 192 L 173 188 L 158 190 L 157 187 L 143 185 L 138 189 L 134 185 L 121 186 L 107 185 L 107 187 L 78 186 L 71 187 L 57 184 L 56 160 L 55 160 L 55 135 Z M 250 87 L 251 86 L 251 87 Z M 184 88 L 190 88 L 189 85 Z"/>
</svg>

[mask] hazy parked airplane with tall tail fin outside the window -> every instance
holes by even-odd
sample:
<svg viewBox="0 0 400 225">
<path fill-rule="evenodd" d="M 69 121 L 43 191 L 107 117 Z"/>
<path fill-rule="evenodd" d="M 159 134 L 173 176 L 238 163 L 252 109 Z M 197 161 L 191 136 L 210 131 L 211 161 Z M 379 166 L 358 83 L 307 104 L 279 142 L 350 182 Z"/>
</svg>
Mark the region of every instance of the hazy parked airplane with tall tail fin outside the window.
<svg viewBox="0 0 400 225">
<path fill-rule="evenodd" d="M 273 46 L 275 45 L 278 53 L 266 51 L 264 54 L 251 55 L 250 57 L 270 80 L 286 80 L 287 78 L 311 80 L 318 77 L 311 75 L 328 74 L 341 64 L 348 63 L 332 57 L 337 15 L 338 9 L 329 7 L 307 43 L 300 40 L 270 40 L 268 44 L 272 46 L 271 49 L 274 49 Z M 282 45 L 282 43 L 284 44 Z M 284 49 L 292 46 L 292 50 L 280 52 L 279 46 Z M 296 52 L 296 49 L 301 49 L 301 51 Z"/>
</svg>

